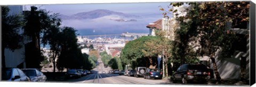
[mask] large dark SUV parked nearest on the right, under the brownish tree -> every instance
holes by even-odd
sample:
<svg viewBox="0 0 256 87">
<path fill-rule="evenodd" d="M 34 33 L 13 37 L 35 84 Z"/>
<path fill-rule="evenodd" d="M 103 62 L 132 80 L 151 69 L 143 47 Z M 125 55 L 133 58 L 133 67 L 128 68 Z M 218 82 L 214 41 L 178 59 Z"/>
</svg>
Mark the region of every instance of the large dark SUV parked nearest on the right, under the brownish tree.
<svg viewBox="0 0 256 87">
<path fill-rule="evenodd" d="M 189 81 L 206 83 L 210 79 L 210 71 L 203 64 L 183 64 L 172 75 L 173 83 L 181 81 L 186 84 Z"/>
</svg>

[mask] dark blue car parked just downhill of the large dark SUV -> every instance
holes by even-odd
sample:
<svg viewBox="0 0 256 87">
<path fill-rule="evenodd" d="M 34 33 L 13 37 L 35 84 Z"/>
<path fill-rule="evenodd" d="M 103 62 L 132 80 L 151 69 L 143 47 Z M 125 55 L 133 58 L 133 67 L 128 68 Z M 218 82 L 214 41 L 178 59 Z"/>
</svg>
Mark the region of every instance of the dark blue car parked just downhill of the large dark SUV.
<svg viewBox="0 0 256 87">
<path fill-rule="evenodd" d="M 159 69 L 147 69 L 143 77 L 144 79 L 162 79 L 163 73 Z"/>
</svg>

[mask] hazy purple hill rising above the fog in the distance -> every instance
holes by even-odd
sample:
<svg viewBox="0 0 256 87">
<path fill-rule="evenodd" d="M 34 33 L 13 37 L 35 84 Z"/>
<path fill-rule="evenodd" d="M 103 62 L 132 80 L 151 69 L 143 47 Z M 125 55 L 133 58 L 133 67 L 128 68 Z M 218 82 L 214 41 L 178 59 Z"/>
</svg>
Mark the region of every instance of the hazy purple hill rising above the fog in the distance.
<svg viewBox="0 0 256 87">
<path fill-rule="evenodd" d="M 106 17 L 107 16 L 107 17 Z M 93 10 L 89 12 L 81 12 L 73 15 L 60 15 L 59 16 L 62 20 L 83 20 L 83 19 L 100 19 L 100 18 L 107 18 L 113 21 L 119 22 L 128 22 L 128 21 L 137 21 L 135 19 L 141 18 L 141 16 L 125 14 L 121 12 L 114 12 L 110 10 Z"/>
</svg>

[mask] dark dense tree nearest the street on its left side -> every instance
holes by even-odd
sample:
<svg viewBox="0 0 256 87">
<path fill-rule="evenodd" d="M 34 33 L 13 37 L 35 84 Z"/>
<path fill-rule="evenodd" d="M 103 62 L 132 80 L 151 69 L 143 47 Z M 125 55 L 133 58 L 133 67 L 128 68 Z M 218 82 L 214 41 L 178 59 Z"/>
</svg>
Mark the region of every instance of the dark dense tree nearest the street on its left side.
<svg viewBox="0 0 256 87">
<path fill-rule="evenodd" d="M 77 45 L 76 30 L 64 27 L 60 33 L 61 52 L 57 60 L 59 68 L 81 68 L 82 52 Z"/>
</svg>

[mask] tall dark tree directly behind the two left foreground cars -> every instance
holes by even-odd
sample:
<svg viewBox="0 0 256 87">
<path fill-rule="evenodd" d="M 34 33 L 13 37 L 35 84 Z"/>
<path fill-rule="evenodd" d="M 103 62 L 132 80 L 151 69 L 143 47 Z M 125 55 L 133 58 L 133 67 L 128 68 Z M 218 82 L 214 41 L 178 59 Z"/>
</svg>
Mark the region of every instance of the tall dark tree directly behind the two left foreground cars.
<svg viewBox="0 0 256 87">
<path fill-rule="evenodd" d="M 32 38 L 25 48 L 26 64 L 28 68 L 41 68 L 39 64 L 44 58 L 41 53 L 41 34 L 51 27 L 52 20 L 46 10 L 37 10 L 35 6 L 30 8 L 30 11 L 24 11 L 26 23 L 23 27 L 24 34 Z"/>
</svg>

